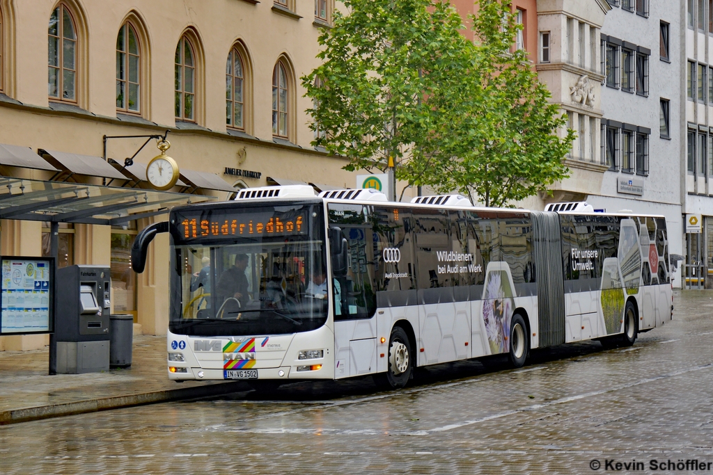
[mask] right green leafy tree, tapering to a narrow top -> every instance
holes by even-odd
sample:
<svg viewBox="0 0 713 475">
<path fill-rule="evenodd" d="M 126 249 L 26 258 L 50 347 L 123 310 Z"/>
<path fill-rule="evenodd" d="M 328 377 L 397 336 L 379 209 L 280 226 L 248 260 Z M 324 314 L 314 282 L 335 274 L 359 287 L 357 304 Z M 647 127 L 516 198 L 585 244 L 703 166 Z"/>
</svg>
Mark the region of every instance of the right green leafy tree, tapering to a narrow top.
<svg viewBox="0 0 713 475">
<path fill-rule="evenodd" d="M 538 81 L 525 51 L 512 51 L 518 28 L 508 2 L 480 0 L 471 18 L 475 67 L 467 94 L 435 98 L 446 110 L 431 143 L 401 170 L 436 192 L 458 190 L 473 203 L 504 207 L 568 176 L 563 157 L 574 132 Z M 466 100 L 463 100 L 463 98 Z"/>
</svg>

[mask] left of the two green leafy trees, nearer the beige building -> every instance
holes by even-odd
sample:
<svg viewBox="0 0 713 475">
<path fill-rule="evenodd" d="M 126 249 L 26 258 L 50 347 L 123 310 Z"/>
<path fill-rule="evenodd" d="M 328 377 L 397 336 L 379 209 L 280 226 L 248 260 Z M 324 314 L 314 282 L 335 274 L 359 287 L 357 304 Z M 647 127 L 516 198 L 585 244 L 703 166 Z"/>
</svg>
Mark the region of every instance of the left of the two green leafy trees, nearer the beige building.
<svg viewBox="0 0 713 475">
<path fill-rule="evenodd" d="M 448 1 L 345 0 L 349 14 L 319 36 L 322 66 L 302 78 L 314 108 L 314 145 L 385 169 L 411 159 L 432 128 L 426 98 L 448 95 L 466 73 L 468 41 Z"/>
</svg>

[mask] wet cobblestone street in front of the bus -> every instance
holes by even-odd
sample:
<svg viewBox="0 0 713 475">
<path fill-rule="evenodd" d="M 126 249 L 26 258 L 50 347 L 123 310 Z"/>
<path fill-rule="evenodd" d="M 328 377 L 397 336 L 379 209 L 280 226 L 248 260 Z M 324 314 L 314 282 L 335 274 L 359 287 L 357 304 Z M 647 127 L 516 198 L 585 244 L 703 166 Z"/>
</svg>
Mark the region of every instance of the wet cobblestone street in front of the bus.
<svg viewBox="0 0 713 475">
<path fill-rule="evenodd" d="M 394 392 L 294 383 L 4 426 L 0 472 L 593 474 L 637 461 L 629 473 L 710 474 L 650 465 L 713 462 L 713 292 L 676 306 L 631 348 L 563 345 L 520 370 L 493 358 Z"/>
</svg>

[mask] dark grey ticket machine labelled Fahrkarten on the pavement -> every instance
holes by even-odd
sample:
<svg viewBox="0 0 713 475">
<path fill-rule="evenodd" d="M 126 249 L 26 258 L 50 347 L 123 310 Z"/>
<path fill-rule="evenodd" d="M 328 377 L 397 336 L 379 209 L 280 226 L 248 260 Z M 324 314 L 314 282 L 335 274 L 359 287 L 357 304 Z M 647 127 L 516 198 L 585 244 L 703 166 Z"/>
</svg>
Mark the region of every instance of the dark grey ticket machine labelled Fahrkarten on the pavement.
<svg viewBox="0 0 713 475">
<path fill-rule="evenodd" d="M 108 266 L 56 271 L 56 372 L 109 370 L 111 272 Z"/>
</svg>

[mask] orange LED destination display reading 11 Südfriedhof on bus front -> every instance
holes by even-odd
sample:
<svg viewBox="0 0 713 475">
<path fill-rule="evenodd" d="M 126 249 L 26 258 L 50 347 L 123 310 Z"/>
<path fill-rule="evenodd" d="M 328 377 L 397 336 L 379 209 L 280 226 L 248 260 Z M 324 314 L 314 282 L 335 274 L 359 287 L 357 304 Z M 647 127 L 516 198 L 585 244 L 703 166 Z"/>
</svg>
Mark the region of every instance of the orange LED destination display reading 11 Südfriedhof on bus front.
<svg viewBox="0 0 713 475">
<path fill-rule="evenodd" d="M 307 234 L 307 211 L 212 212 L 208 216 L 176 214 L 180 237 L 200 238 L 299 236 Z"/>
</svg>

